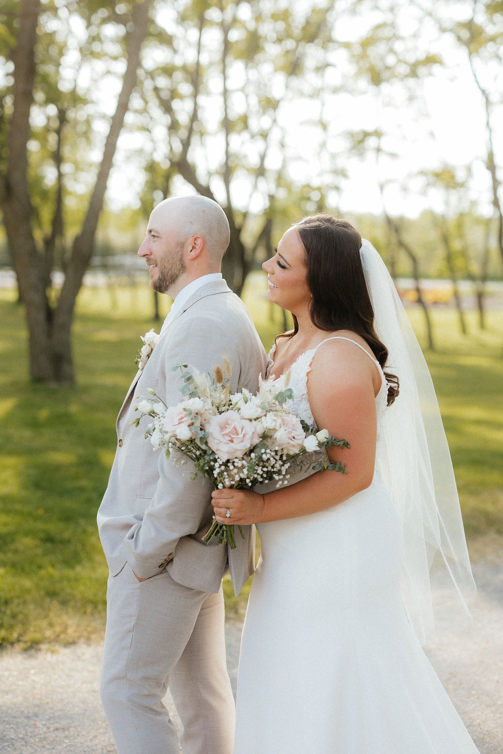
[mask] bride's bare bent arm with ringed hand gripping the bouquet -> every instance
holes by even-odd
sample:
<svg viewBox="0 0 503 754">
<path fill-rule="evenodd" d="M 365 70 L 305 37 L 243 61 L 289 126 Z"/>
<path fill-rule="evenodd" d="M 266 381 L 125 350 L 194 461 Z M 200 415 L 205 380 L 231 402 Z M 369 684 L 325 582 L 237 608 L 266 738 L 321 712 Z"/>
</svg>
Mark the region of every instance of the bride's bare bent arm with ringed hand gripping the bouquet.
<svg viewBox="0 0 503 754">
<path fill-rule="evenodd" d="M 357 351 L 357 353 L 355 353 Z M 320 348 L 308 375 L 308 395 L 317 427 L 343 437 L 350 449 L 330 448 L 331 461 L 346 464 L 348 474 L 321 470 L 265 495 L 219 489 L 212 493 L 221 523 L 262 523 L 304 516 L 341 503 L 366 489 L 376 458 L 376 366 L 360 349 L 341 341 Z M 229 508 L 229 520 L 225 512 Z"/>
</svg>

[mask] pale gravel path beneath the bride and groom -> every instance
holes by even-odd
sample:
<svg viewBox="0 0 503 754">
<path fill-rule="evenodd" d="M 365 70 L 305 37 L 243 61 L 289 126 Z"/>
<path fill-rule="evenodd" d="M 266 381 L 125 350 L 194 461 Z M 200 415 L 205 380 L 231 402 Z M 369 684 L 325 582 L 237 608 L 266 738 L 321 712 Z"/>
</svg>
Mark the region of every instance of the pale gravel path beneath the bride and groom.
<svg viewBox="0 0 503 754">
<path fill-rule="evenodd" d="M 480 754 L 501 754 L 503 568 L 486 559 L 474 565 L 474 576 L 479 596 L 473 624 L 443 632 L 428 655 Z M 226 628 L 235 688 L 241 623 L 228 621 Z M 93 644 L 0 655 L 2 754 L 115 752 L 98 692 L 101 652 Z"/>
</svg>

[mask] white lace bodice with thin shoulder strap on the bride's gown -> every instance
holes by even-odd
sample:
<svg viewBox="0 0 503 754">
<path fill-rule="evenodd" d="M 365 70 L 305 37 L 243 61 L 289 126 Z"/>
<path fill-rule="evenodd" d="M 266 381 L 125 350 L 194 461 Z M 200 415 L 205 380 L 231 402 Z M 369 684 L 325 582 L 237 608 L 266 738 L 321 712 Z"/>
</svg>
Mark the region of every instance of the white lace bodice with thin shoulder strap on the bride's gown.
<svg viewBox="0 0 503 754">
<path fill-rule="evenodd" d="M 325 340 L 322 340 L 321 343 L 318 343 L 318 345 L 314 346 L 314 348 L 309 348 L 308 351 L 304 351 L 303 354 L 300 354 L 299 358 L 290 366 L 290 369 L 288 370 L 290 372 L 290 380 L 288 382 L 288 387 L 292 388 L 293 390 L 293 400 L 291 400 L 287 405 L 290 411 L 295 414 L 296 416 L 299 416 L 299 418 L 303 419 L 304 421 L 307 421 L 308 424 L 312 424 L 314 421 L 313 415 L 311 413 L 311 406 L 309 406 L 309 397 L 308 397 L 308 374 L 311 371 L 311 362 L 314 359 L 314 354 L 316 353 L 317 349 L 320 348 L 321 345 L 324 343 L 327 343 L 329 340 L 347 340 L 350 343 L 354 343 L 354 345 L 357 345 L 358 348 L 360 348 L 364 354 L 367 354 L 367 356 L 373 360 L 373 362 L 376 364 L 376 366 L 379 369 L 379 373 L 381 375 L 382 379 L 382 385 L 381 389 L 379 390 L 379 393 L 376 395 L 376 409 L 377 409 L 377 434 L 378 434 L 378 442 L 379 442 L 379 427 L 381 425 L 381 420 L 384 415 L 386 405 L 387 405 L 387 385 L 386 385 L 386 379 L 384 372 L 382 371 L 382 367 L 379 364 L 379 361 L 375 358 L 373 358 L 370 353 L 367 351 L 366 348 L 363 348 L 360 343 L 357 343 L 355 340 L 351 340 L 351 338 L 344 338 L 342 336 L 332 336 L 330 338 L 326 338 Z M 268 367 L 267 367 L 267 374 L 271 370 L 271 366 L 274 365 L 274 355 L 276 352 L 276 344 L 273 345 L 271 348 L 271 351 L 269 351 L 268 354 Z M 273 380 L 272 382 L 279 382 L 279 380 L 283 379 L 284 375 L 281 377 L 278 377 L 278 379 Z"/>
</svg>

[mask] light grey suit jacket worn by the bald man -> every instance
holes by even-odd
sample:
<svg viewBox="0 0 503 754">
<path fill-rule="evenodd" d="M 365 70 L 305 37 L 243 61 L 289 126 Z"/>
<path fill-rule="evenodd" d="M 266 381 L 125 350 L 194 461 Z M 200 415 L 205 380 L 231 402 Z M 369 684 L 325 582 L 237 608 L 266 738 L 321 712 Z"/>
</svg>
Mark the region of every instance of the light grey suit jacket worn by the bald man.
<svg viewBox="0 0 503 754">
<path fill-rule="evenodd" d="M 167 324 L 146 366 L 130 385 L 117 418 L 117 452 L 109 486 L 98 511 L 98 528 L 112 575 L 128 562 L 149 578 L 166 568 L 186 587 L 217 592 L 228 564 L 237 594 L 254 569 L 254 531 L 237 532 L 235 550 L 204 544 L 212 521 L 211 485 L 191 480 L 192 461 L 175 464 L 145 439 L 147 418 L 136 428 L 135 403 L 149 388 L 174 406 L 182 400 L 178 363 L 210 372 L 222 357 L 232 366 L 231 389 L 256 391 L 265 374 L 265 351 L 247 308 L 227 287 L 213 280 L 195 291 Z"/>
</svg>

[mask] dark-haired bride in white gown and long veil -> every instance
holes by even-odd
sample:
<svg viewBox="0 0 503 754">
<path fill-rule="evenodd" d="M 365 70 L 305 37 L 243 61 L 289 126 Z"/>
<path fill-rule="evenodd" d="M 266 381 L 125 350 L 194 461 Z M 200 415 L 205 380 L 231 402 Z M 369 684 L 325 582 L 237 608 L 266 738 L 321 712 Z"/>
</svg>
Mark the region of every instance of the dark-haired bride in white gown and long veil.
<svg viewBox="0 0 503 754">
<path fill-rule="evenodd" d="M 329 215 L 293 225 L 263 268 L 295 323 L 268 379 L 351 449 L 329 451 L 348 474 L 213 492 L 216 520 L 256 523 L 262 541 L 235 754 L 477 752 L 421 647 L 433 580 L 449 611 L 453 593 L 468 612 L 474 584 L 431 378 L 391 277 Z"/>
</svg>

